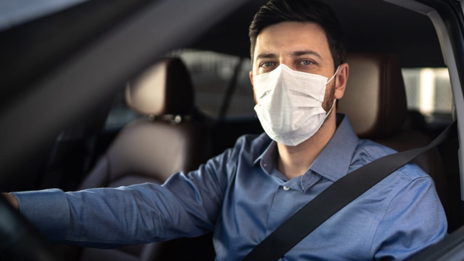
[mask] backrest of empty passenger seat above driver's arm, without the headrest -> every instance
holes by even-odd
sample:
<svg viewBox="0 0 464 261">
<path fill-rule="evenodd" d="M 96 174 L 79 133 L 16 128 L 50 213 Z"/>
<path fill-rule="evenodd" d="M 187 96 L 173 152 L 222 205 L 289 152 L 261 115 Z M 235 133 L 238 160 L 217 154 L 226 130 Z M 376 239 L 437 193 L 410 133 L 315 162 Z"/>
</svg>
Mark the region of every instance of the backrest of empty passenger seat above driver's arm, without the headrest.
<svg viewBox="0 0 464 261">
<path fill-rule="evenodd" d="M 139 118 L 120 132 L 79 189 L 163 183 L 175 172 L 195 170 L 208 155 L 205 131 L 198 123 Z"/>
</svg>

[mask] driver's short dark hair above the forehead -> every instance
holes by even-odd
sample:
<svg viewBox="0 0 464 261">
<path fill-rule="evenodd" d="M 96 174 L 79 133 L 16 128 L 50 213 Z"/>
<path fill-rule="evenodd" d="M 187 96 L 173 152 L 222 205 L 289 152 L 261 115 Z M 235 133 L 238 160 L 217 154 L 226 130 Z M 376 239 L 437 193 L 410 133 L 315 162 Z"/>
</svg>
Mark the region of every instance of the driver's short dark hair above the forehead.
<svg viewBox="0 0 464 261">
<path fill-rule="evenodd" d="M 342 27 L 334 11 L 326 4 L 310 0 L 271 0 L 255 14 L 250 25 L 251 59 L 258 34 L 280 22 L 310 22 L 321 26 L 329 43 L 335 68 L 345 62 L 346 49 Z"/>
</svg>

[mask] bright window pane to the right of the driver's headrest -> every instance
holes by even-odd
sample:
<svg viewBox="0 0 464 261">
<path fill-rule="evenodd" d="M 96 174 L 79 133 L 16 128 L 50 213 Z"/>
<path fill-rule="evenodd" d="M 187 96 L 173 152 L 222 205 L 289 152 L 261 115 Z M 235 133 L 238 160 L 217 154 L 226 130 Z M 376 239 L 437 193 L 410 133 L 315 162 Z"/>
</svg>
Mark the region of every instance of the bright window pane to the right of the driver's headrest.
<svg viewBox="0 0 464 261">
<path fill-rule="evenodd" d="M 402 69 L 408 109 L 423 115 L 451 114 L 452 93 L 447 68 Z"/>
</svg>

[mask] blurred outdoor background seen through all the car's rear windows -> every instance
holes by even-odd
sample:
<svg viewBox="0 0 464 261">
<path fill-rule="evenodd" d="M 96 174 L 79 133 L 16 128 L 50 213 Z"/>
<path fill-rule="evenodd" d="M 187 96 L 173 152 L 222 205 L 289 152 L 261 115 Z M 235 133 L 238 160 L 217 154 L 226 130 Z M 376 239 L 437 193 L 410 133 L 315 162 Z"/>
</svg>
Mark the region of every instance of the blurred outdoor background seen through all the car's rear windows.
<svg viewBox="0 0 464 261">
<path fill-rule="evenodd" d="M 166 56 L 182 59 L 195 88 L 195 103 L 206 115 L 217 118 L 223 103 L 229 100 L 225 117 L 253 116 L 253 87 L 249 72 L 251 60 L 210 51 L 181 49 Z M 238 72 L 236 74 L 236 72 Z M 419 111 L 427 122 L 451 118 L 451 85 L 447 68 L 404 68 L 408 109 Z M 232 95 L 226 97 L 232 86 Z M 121 128 L 138 115 L 125 104 L 124 92 L 107 119 L 106 127 Z"/>
</svg>

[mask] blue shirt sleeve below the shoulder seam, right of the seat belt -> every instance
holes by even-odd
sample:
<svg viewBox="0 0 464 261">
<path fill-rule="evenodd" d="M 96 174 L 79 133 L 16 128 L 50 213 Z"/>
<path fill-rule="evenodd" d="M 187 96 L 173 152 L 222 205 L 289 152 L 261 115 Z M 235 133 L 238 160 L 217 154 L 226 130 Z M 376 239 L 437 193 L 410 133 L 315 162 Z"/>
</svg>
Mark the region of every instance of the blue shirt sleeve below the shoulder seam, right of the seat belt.
<svg viewBox="0 0 464 261">
<path fill-rule="evenodd" d="M 445 211 L 429 176 L 413 179 L 393 196 L 374 234 L 375 260 L 405 260 L 446 235 Z"/>
</svg>

